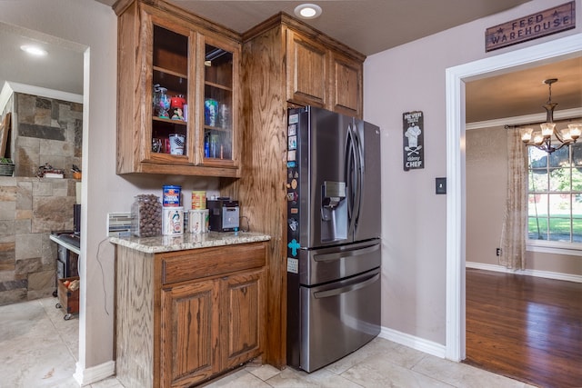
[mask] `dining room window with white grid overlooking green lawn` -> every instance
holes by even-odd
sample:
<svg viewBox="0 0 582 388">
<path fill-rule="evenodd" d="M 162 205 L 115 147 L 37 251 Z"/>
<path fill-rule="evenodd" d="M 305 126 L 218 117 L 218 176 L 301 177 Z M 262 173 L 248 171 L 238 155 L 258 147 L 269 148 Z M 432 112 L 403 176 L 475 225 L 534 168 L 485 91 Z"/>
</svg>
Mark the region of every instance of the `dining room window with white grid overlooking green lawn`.
<svg viewBox="0 0 582 388">
<path fill-rule="evenodd" d="M 528 147 L 527 214 L 528 240 L 582 246 L 582 144 Z"/>
</svg>

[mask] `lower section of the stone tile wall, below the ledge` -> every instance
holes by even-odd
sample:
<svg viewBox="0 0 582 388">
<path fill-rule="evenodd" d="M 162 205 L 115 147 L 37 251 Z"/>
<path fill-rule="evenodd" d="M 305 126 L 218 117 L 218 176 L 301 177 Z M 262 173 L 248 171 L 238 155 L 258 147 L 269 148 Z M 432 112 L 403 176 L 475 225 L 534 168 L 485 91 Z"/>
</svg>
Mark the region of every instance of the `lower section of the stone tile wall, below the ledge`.
<svg viewBox="0 0 582 388">
<path fill-rule="evenodd" d="M 0 176 L 0 305 L 55 291 L 54 230 L 73 229 L 73 179 Z"/>
</svg>

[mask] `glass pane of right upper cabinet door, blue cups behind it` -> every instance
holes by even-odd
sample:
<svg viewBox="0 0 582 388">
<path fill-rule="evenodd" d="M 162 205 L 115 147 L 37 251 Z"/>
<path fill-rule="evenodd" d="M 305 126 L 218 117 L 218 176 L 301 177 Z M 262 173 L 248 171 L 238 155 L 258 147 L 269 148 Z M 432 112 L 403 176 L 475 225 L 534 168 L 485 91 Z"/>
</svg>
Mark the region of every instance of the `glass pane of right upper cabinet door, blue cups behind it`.
<svg viewBox="0 0 582 388">
<path fill-rule="evenodd" d="M 233 53 L 205 47 L 205 157 L 232 159 Z"/>
</svg>

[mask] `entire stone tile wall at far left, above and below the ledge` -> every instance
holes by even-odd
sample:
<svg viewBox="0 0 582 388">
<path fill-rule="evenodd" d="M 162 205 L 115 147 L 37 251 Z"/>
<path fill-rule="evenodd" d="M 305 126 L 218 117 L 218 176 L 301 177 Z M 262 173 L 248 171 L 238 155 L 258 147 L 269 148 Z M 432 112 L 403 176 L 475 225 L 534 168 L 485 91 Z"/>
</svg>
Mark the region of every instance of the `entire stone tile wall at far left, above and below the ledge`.
<svg viewBox="0 0 582 388">
<path fill-rule="evenodd" d="M 0 176 L 0 305 L 55 291 L 56 244 L 51 231 L 73 229 L 73 179 L 37 178 L 46 163 L 81 166 L 83 104 L 15 93 L 8 155 L 12 177 Z M 5 112 L 3 112 L 5 114 Z"/>
</svg>

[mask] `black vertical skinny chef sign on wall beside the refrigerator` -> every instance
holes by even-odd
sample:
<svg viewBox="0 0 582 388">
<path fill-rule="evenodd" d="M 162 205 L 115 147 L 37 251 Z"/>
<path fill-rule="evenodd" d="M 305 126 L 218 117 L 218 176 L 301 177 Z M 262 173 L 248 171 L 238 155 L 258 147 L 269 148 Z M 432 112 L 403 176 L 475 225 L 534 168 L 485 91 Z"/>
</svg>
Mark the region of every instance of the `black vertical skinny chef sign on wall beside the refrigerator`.
<svg viewBox="0 0 582 388">
<path fill-rule="evenodd" d="M 425 124 L 420 111 L 402 114 L 404 171 L 425 168 Z"/>
</svg>

